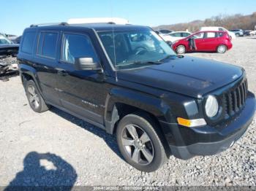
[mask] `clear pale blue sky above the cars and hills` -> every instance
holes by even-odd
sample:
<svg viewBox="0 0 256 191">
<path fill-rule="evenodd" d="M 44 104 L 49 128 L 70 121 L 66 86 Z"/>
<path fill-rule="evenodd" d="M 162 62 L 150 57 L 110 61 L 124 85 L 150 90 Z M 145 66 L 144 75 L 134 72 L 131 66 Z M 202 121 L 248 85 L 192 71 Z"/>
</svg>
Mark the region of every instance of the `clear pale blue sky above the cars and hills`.
<svg viewBox="0 0 256 191">
<path fill-rule="evenodd" d="M 187 23 L 225 14 L 256 12 L 255 0 L 0 0 L 0 32 L 21 35 L 33 23 L 80 17 L 123 17 L 143 26 Z"/>
</svg>

